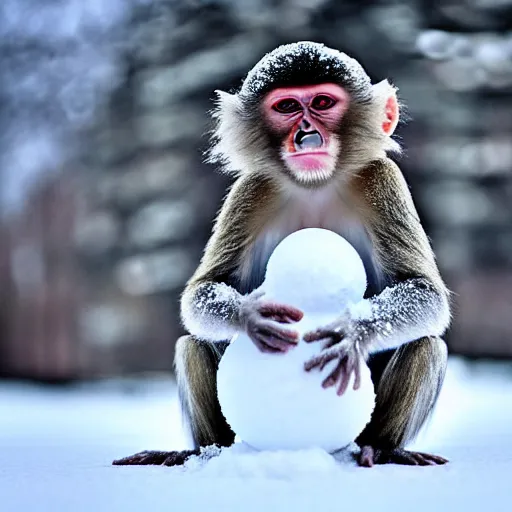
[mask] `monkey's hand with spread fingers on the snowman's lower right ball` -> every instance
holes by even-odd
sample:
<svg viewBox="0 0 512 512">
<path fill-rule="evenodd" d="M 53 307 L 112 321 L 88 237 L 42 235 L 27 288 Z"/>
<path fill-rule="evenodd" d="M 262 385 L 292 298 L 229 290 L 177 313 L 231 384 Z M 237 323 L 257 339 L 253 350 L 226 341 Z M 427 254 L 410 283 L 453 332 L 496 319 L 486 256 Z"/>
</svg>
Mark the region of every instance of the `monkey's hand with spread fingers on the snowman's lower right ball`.
<svg viewBox="0 0 512 512">
<path fill-rule="evenodd" d="M 308 343 L 324 341 L 325 343 L 320 354 L 306 361 L 305 370 L 309 372 L 313 368 L 319 368 L 321 371 L 328 363 L 336 360 L 334 370 L 324 379 L 322 387 L 337 386 L 337 394 L 341 396 L 347 390 L 350 377 L 354 374 L 353 388 L 359 389 L 361 359 L 364 360 L 367 356 L 364 350 L 366 344 L 360 334 L 357 324 L 350 322 L 347 315 L 326 327 L 307 333 L 304 341 Z"/>
</svg>

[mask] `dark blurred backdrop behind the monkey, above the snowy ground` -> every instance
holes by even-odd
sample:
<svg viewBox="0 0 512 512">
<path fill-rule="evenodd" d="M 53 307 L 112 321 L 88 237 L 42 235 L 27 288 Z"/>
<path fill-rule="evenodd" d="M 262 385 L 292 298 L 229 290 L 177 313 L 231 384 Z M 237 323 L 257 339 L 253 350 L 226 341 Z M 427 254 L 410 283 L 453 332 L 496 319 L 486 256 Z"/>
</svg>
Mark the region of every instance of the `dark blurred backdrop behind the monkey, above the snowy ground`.
<svg viewBox="0 0 512 512">
<path fill-rule="evenodd" d="M 452 353 L 512 356 L 512 0 L 2 0 L 0 375 L 169 372 L 229 181 L 213 91 L 315 40 L 399 87 L 399 136 L 455 292 Z"/>
</svg>

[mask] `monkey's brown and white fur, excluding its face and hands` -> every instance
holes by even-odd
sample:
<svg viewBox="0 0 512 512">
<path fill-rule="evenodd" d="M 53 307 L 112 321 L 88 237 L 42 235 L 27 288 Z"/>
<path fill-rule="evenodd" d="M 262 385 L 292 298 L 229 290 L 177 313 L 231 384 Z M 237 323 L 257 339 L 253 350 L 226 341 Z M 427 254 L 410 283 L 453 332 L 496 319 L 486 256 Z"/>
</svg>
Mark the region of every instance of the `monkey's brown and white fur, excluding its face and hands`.
<svg viewBox="0 0 512 512">
<path fill-rule="evenodd" d="M 443 463 L 403 449 L 441 389 L 447 362 L 441 336 L 450 311 L 449 292 L 407 184 L 386 155 L 398 145 L 379 129 L 387 94 L 394 89 L 387 82 L 372 86 L 361 66 L 344 54 L 322 52 L 322 45 L 311 43 L 281 48 L 279 65 L 263 59 L 238 94 L 220 93 L 211 159 L 237 179 L 182 296 L 182 318 L 191 335 L 178 341 L 175 366 L 196 447 L 190 453 L 234 440 L 217 400 L 216 371 L 226 340 L 240 326 L 247 294 L 263 281 L 272 250 L 297 229 L 324 227 L 358 251 L 368 276 L 365 296 L 380 315 L 359 326 L 361 336 L 371 340 L 363 353 L 376 388 L 371 421 L 356 440 L 362 447 L 360 464 Z M 298 183 L 258 107 L 275 87 L 326 82 L 351 91 L 338 133 L 340 159 L 327 184 Z M 118 463 L 137 464 L 142 458 Z"/>
</svg>

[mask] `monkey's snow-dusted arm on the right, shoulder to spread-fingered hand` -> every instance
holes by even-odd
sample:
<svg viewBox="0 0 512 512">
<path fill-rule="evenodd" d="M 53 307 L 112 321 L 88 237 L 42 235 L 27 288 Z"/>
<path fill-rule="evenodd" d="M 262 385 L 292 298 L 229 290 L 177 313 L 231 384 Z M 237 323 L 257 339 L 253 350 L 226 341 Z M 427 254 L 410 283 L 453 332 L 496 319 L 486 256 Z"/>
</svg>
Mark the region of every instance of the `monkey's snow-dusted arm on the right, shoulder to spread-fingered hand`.
<svg viewBox="0 0 512 512">
<path fill-rule="evenodd" d="M 330 338 L 332 346 L 309 361 L 306 369 L 340 357 L 353 346 L 366 356 L 441 335 L 450 321 L 449 293 L 400 169 L 391 160 L 377 160 L 358 174 L 353 187 L 355 197 L 362 199 L 377 259 L 392 285 L 369 299 L 370 313 L 364 317 L 346 314 L 337 323 L 308 333 L 307 341 Z M 347 370 L 357 374 L 356 367 Z"/>
</svg>

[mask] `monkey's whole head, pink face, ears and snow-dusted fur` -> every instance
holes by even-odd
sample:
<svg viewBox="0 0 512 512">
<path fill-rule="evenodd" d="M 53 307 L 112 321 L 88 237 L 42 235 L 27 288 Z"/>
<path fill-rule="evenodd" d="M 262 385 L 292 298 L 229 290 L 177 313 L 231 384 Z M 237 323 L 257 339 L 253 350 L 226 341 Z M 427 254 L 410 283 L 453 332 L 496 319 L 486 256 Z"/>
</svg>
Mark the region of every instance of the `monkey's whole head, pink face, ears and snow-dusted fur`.
<svg viewBox="0 0 512 512">
<path fill-rule="evenodd" d="M 236 94 L 218 95 L 211 160 L 229 172 L 318 187 L 398 149 L 395 88 L 372 85 L 356 60 L 323 44 L 280 46 Z"/>
</svg>

